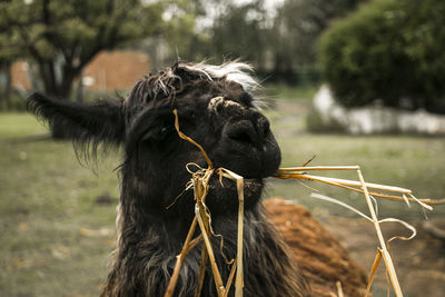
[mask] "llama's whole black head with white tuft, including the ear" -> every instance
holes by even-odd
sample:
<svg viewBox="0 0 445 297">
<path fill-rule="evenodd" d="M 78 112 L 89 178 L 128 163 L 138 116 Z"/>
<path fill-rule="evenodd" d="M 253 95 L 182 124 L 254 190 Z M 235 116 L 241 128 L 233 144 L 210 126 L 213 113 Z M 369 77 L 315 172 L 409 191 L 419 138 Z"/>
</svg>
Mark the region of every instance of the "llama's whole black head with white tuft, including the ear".
<svg viewBox="0 0 445 297">
<path fill-rule="evenodd" d="M 178 137 L 172 113 L 177 109 L 180 130 L 202 146 L 214 167 L 245 177 L 249 207 L 259 199 L 263 179 L 280 162 L 269 121 L 256 107 L 257 83 L 249 70 L 239 62 L 179 62 L 140 80 L 121 101 L 82 105 L 33 95 L 29 105 L 52 129 L 63 129 L 80 151 L 96 152 L 101 142 L 122 146 L 122 195 L 137 199 L 138 208 L 166 215 L 177 215 L 192 202 L 188 192 L 167 208 L 190 179 L 187 164 L 207 167 L 201 152 Z M 212 214 L 236 209 L 234 182 L 220 185 L 215 177 L 210 187 Z"/>
</svg>

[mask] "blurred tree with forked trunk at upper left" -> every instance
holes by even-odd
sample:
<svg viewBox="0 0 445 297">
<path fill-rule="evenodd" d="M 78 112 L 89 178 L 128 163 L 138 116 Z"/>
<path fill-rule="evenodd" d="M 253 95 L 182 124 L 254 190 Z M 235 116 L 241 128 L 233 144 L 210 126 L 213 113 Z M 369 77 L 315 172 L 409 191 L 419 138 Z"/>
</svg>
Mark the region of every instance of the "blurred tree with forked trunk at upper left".
<svg viewBox="0 0 445 297">
<path fill-rule="evenodd" d="M 68 98 L 99 51 L 160 32 L 164 8 L 138 0 L 2 1 L 0 28 L 8 30 L 0 31 L 0 52 L 32 58 L 44 91 Z"/>
</svg>

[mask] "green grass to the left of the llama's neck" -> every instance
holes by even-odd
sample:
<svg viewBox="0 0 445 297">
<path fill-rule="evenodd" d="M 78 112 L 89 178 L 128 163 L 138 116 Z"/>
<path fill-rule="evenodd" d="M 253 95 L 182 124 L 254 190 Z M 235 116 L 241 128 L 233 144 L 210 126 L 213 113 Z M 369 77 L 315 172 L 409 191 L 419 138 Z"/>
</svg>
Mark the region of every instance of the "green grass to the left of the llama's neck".
<svg viewBox="0 0 445 297">
<path fill-rule="evenodd" d="M 0 115 L 0 296 L 97 296 L 116 204 L 95 200 L 117 197 L 118 160 L 105 158 L 95 176 L 71 143 L 29 138 L 44 131 L 29 115 Z M 81 232 L 100 228 L 111 235 Z"/>
</svg>

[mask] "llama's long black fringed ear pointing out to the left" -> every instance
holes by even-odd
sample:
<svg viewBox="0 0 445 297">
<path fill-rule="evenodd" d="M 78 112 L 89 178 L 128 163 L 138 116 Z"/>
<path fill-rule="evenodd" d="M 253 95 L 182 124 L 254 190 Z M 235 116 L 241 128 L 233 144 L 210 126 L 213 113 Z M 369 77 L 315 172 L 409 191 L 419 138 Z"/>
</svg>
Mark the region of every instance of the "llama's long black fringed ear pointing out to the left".
<svg viewBox="0 0 445 297">
<path fill-rule="evenodd" d="M 121 102 L 101 100 L 96 103 L 79 103 L 47 98 L 33 93 L 28 98 L 28 109 L 49 123 L 52 132 L 80 145 L 99 142 L 117 145 L 123 141 L 125 125 Z"/>
</svg>

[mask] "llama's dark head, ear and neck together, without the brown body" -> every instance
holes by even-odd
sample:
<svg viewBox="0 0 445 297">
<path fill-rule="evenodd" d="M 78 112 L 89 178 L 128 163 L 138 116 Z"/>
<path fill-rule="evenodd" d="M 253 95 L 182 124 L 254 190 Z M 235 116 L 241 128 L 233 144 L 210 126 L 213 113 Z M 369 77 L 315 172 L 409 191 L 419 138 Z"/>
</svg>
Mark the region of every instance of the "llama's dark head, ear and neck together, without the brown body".
<svg viewBox="0 0 445 297">
<path fill-rule="evenodd" d="M 97 154 L 101 143 L 123 148 L 120 166 L 118 238 L 101 296 L 162 296 L 194 218 L 192 192 L 186 166 L 206 167 L 202 155 L 180 139 L 181 131 L 200 143 L 215 168 L 245 177 L 244 295 L 310 296 L 308 281 L 260 202 L 264 179 L 279 167 L 280 150 L 269 121 L 260 113 L 258 83 L 240 62 L 221 66 L 177 62 L 141 79 L 121 100 L 78 103 L 34 93 L 29 108 L 61 129 L 78 152 Z M 235 182 L 210 180 L 207 207 L 211 214 L 216 263 L 224 283 L 225 257 L 236 258 L 238 196 Z M 175 296 L 194 296 L 200 246 L 185 258 Z M 201 296 L 217 296 L 210 267 Z M 230 295 L 233 296 L 231 288 Z"/>
</svg>

